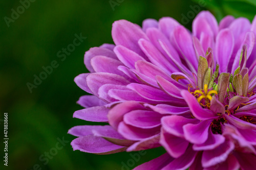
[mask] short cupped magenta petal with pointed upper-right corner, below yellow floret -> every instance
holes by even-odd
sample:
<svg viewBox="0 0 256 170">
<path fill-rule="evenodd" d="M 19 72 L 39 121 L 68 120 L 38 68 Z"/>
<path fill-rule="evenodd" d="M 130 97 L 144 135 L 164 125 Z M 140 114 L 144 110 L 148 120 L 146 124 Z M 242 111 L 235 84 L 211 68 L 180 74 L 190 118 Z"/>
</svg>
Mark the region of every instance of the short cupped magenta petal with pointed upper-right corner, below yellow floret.
<svg viewBox="0 0 256 170">
<path fill-rule="evenodd" d="M 208 129 L 211 121 L 204 120 L 199 124 L 187 124 L 183 126 L 184 137 L 195 144 L 202 144 L 208 138 Z"/>
</svg>

